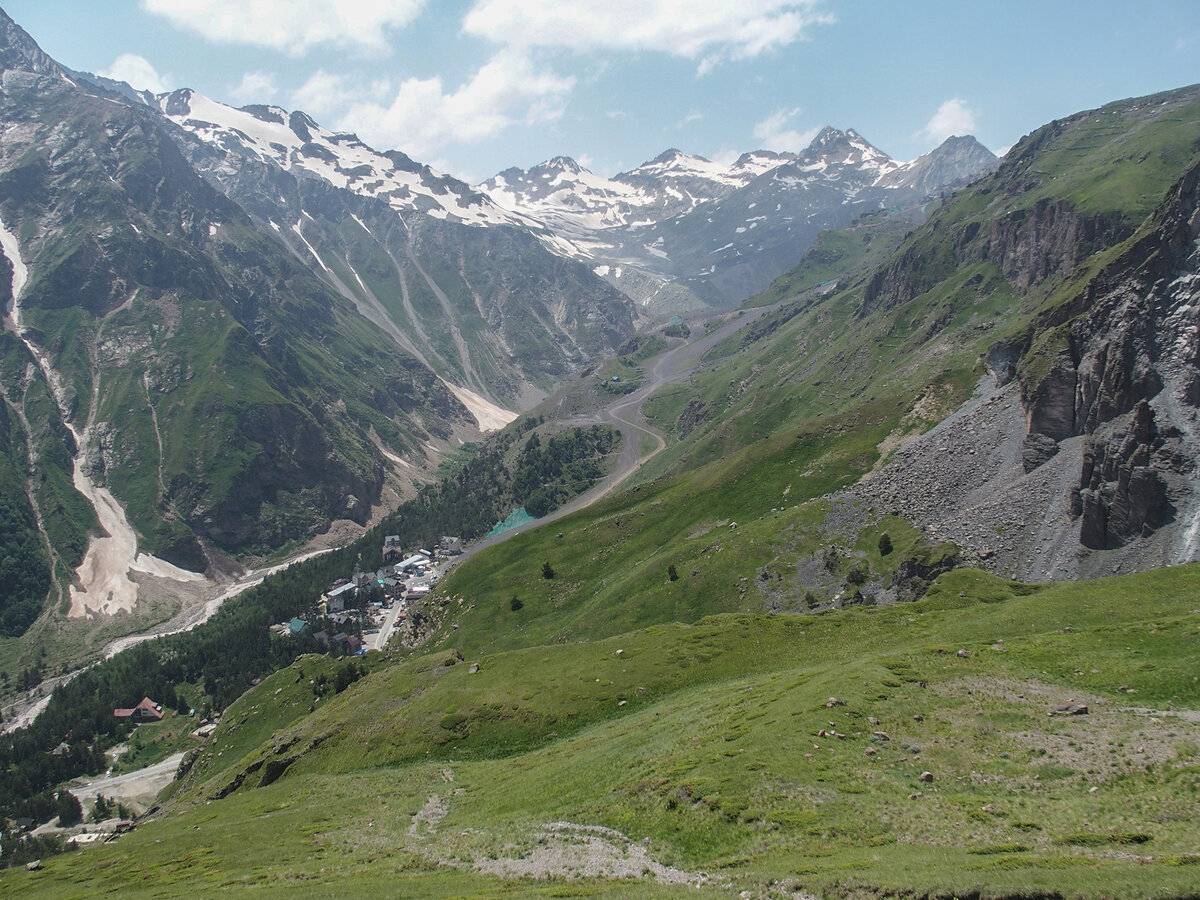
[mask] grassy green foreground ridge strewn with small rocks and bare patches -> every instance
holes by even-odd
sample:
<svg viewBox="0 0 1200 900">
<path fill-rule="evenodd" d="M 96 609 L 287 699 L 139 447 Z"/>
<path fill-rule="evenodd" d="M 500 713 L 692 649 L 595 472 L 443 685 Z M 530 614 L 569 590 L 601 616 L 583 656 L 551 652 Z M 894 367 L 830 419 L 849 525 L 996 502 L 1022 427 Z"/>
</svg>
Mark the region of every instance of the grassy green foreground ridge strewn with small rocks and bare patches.
<svg viewBox="0 0 1200 900">
<path fill-rule="evenodd" d="M 0 884 L 656 896 L 680 872 L 702 896 L 1188 896 L 1198 588 L 1200 566 L 1043 587 L 964 570 L 916 604 L 442 652 L 320 698 L 305 660 L 230 709 L 161 822 Z M 1088 714 L 1049 715 L 1068 700 Z M 610 868 L 583 875 L 552 823 L 612 829 Z M 642 868 L 606 878 L 631 846 Z M 494 874 L 550 850 L 553 882 Z"/>
</svg>

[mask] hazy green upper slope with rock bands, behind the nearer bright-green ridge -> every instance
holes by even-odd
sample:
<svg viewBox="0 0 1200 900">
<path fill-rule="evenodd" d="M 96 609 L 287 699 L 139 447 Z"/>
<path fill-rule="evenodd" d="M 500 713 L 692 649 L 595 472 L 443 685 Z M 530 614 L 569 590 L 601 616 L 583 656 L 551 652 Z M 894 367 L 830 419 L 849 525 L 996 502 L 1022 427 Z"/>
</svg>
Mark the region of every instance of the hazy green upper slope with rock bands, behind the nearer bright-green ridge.
<svg viewBox="0 0 1200 900">
<path fill-rule="evenodd" d="M 880 214 L 823 235 L 750 304 L 794 299 L 647 404 L 678 439 L 647 476 L 822 416 L 853 421 L 872 400 L 895 410 L 894 427 L 908 428 L 906 415 L 928 427 L 968 395 L 997 342 L 1028 350 L 1020 366 L 1032 372 L 1062 340 L 1036 340 L 1037 314 L 1116 258 L 1198 148 L 1200 88 L 1121 101 L 1030 134 L 907 235 Z M 812 290 L 822 282 L 836 292 Z"/>
</svg>

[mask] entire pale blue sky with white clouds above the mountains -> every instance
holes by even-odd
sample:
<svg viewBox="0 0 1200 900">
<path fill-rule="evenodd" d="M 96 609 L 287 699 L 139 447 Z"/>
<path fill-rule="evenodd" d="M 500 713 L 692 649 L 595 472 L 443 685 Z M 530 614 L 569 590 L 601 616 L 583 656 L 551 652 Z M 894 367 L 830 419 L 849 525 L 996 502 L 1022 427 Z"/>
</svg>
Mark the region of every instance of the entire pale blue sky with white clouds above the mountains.
<svg viewBox="0 0 1200 900">
<path fill-rule="evenodd" d="M 1147 0 L 8 0 L 72 68 L 304 109 L 469 181 L 574 156 L 992 150 L 1200 82 L 1200 2 Z"/>
</svg>

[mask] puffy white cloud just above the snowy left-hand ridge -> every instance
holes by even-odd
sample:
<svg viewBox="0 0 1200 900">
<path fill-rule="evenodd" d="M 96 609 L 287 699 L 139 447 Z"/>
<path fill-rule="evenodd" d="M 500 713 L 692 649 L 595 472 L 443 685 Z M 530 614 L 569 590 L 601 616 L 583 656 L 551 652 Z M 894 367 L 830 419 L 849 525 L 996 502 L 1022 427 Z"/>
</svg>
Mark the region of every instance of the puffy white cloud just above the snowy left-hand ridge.
<svg viewBox="0 0 1200 900">
<path fill-rule="evenodd" d="M 504 49 L 449 92 L 438 77 L 408 78 L 391 88 L 318 71 L 292 104 L 334 127 L 356 131 L 374 146 L 424 160 L 450 144 L 485 140 L 518 122 L 552 121 L 562 115 L 574 86 L 574 78 L 539 71 L 524 53 Z"/>
</svg>

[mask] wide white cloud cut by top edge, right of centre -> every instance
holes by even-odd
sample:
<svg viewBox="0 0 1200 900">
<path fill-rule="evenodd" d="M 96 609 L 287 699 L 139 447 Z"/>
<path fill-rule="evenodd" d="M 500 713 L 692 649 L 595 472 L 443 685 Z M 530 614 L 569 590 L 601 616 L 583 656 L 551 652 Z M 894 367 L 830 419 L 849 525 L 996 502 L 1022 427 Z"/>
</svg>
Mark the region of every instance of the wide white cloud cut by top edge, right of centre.
<svg viewBox="0 0 1200 900">
<path fill-rule="evenodd" d="M 475 0 L 463 31 L 514 47 L 652 50 L 700 60 L 701 74 L 803 38 L 834 18 L 818 0 Z"/>
</svg>

